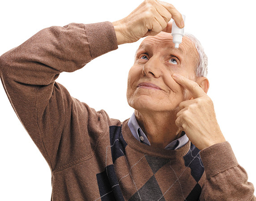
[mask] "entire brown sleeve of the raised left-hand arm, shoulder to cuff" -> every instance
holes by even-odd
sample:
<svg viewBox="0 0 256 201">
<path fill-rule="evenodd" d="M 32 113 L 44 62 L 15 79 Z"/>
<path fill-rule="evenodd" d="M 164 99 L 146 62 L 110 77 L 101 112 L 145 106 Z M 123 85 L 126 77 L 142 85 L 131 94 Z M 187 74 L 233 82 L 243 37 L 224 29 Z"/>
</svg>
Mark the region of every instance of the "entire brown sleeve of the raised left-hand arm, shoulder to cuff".
<svg viewBox="0 0 256 201">
<path fill-rule="evenodd" d="M 90 157 L 108 118 L 70 96 L 55 79 L 115 49 L 111 22 L 71 23 L 43 29 L 0 57 L 4 90 L 51 170 Z"/>
</svg>

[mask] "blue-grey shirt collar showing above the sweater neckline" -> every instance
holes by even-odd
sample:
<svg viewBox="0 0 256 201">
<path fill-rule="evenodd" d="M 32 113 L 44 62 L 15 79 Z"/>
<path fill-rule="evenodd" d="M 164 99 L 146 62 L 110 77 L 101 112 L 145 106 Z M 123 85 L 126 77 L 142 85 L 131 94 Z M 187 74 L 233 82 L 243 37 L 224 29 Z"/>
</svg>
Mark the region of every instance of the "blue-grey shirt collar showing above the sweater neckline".
<svg viewBox="0 0 256 201">
<path fill-rule="evenodd" d="M 149 139 L 147 138 L 145 133 L 141 130 L 141 127 L 139 126 L 138 121 L 137 121 L 134 113 L 132 114 L 132 117 L 128 121 L 128 127 L 131 130 L 132 135 L 134 136 L 134 138 L 136 138 L 138 141 L 150 146 Z M 175 139 L 171 143 L 169 143 L 165 147 L 165 149 L 174 149 L 174 150 L 176 150 L 176 149 L 179 149 L 180 147 L 183 147 L 187 142 L 188 142 L 188 137 L 185 134 L 185 132 L 182 131 L 182 136 L 178 139 Z"/>
</svg>

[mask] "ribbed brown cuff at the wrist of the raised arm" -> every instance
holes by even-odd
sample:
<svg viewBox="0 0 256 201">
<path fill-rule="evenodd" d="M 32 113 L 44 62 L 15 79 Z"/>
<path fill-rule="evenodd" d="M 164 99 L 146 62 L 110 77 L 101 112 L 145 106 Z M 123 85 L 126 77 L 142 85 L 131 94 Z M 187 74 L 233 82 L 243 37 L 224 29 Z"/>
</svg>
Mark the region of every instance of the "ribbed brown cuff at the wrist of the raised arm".
<svg viewBox="0 0 256 201">
<path fill-rule="evenodd" d="M 86 24 L 85 33 L 93 59 L 118 48 L 115 29 L 109 21 Z"/>
</svg>

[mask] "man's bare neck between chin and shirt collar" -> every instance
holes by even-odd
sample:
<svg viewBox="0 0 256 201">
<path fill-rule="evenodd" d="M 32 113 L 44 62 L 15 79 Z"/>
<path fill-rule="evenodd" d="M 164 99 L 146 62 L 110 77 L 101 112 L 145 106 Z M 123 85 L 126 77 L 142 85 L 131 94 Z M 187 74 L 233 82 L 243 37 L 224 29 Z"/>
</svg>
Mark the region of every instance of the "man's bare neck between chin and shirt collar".
<svg viewBox="0 0 256 201">
<path fill-rule="evenodd" d="M 175 111 L 143 113 L 135 110 L 134 113 L 152 147 L 164 149 L 181 136 L 181 130 L 175 125 Z"/>
</svg>

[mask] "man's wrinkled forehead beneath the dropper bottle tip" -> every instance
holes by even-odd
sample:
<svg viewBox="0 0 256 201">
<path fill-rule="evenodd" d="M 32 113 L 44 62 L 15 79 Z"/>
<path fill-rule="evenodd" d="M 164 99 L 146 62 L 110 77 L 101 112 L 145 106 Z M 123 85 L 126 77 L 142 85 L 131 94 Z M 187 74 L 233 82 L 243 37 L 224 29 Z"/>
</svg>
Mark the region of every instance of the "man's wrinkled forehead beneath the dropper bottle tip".
<svg viewBox="0 0 256 201">
<path fill-rule="evenodd" d="M 141 48 L 157 51 L 169 50 L 186 56 L 189 55 L 196 60 L 199 58 L 196 47 L 189 38 L 184 36 L 181 44 L 179 44 L 179 48 L 175 48 L 175 44 L 172 42 L 172 35 L 166 32 L 160 32 L 155 36 L 148 36 L 141 42 L 139 49 Z"/>
</svg>

